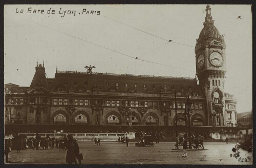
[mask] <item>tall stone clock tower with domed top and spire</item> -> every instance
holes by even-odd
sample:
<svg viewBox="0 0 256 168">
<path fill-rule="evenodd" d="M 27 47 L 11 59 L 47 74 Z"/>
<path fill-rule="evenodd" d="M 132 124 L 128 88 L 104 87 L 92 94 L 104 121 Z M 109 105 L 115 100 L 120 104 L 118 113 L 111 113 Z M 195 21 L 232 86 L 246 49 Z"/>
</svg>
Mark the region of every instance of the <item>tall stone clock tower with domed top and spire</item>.
<svg viewBox="0 0 256 168">
<path fill-rule="evenodd" d="M 206 97 L 206 123 L 208 126 L 225 126 L 224 79 L 226 72 L 225 42 L 214 26 L 210 6 L 206 6 L 204 27 L 195 47 L 196 70 Z"/>
</svg>

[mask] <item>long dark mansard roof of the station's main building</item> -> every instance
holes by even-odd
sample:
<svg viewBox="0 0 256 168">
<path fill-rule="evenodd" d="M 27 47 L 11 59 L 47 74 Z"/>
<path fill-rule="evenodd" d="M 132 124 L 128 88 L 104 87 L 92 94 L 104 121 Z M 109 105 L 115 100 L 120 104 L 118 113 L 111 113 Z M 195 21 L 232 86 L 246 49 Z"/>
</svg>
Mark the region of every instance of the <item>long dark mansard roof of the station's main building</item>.
<svg viewBox="0 0 256 168">
<path fill-rule="evenodd" d="M 196 78 L 189 77 L 57 71 L 55 78 L 47 81 L 49 90 L 63 92 L 87 92 L 96 89 L 104 92 L 173 93 L 174 87 L 182 95 L 190 90 L 190 93 L 197 92 L 198 96 L 203 96 Z"/>
</svg>

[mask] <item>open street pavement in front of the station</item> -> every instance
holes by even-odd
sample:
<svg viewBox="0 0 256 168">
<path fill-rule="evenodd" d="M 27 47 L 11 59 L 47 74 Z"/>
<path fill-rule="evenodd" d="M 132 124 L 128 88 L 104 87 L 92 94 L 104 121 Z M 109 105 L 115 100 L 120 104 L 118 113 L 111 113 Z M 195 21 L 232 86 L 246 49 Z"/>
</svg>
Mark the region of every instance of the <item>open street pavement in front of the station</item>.
<svg viewBox="0 0 256 168">
<path fill-rule="evenodd" d="M 209 150 L 187 151 L 188 157 L 181 157 L 182 151 L 172 150 L 174 144 L 160 143 L 143 148 L 134 147 L 135 143 L 129 143 L 128 147 L 120 143 L 100 143 L 100 146 L 78 143 L 84 157 L 82 164 L 252 164 L 252 152 L 239 150 L 236 153 L 240 152 L 240 158 L 233 156 L 232 148 L 236 144 L 204 143 Z M 58 149 L 27 149 L 20 153 L 13 150 L 9 153 L 9 164 L 67 164 L 66 154 L 67 151 Z"/>
</svg>

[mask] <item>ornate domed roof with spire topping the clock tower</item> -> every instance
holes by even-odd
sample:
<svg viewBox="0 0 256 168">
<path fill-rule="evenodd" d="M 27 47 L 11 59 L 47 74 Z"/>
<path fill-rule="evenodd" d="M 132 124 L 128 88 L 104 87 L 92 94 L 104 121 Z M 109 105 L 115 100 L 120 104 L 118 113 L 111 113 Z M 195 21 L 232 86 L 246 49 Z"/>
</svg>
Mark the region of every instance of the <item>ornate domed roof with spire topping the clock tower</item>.
<svg viewBox="0 0 256 168">
<path fill-rule="evenodd" d="M 220 33 L 218 29 L 214 26 L 214 20 L 212 20 L 210 10 L 210 6 L 207 5 L 205 9 L 206 17 L 203 23 L 204 28 L 199 35 L 198 41 L 204 41 L 208 38 L 220 38 Z"/>
</svg>

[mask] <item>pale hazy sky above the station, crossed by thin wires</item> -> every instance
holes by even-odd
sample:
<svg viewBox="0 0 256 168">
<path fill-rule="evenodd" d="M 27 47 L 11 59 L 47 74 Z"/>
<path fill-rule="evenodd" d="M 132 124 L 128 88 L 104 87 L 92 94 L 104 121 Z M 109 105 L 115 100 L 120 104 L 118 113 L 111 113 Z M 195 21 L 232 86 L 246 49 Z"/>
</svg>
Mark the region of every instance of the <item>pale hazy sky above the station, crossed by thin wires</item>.
<svg viewBox="0 0 256 168">
<path fill-rule="evenodd" d="M 250 111 L 251 6 L 210 8 L 214 25 L 225 35 L 225 92 L 237 98 L 238 113 Z M 84 72 L 90 65 L 95 66 L 93 72 L 195 77 L 195 45 L 205 9 L 206 5 L 5 5 L 4 82 L 29 87 L 36 61 L 45 62 L 48 78 L 54 77 L 56 67 Z"/>
</svg>

